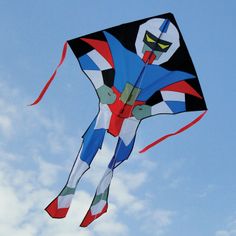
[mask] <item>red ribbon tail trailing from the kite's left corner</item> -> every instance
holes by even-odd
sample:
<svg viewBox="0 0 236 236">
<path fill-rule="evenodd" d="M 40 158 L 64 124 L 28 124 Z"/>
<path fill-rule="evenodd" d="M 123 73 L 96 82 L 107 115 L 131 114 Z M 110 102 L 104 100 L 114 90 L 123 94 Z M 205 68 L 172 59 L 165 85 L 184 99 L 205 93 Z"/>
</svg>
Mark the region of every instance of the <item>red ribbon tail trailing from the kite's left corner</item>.
<svg viewBox="0 0 236 236">
<path fill-rule="evenodd" d="M 63 50 L 62 50 L 62 55 L 61 55 L 61 59 L 60 59 L 60 62 L 59 64 L 57 65 L 55 71 L 53 72 L 52 76 L 50 77 L 50 79 L 48 80 L 48 82 L 46 83 L 46 85 L 44 86 L 44 88 L 42 89 L 42 91 L 40 92 L 39 96 L 37 97 L 37 99 L 31 103 L 29 106 L 33 106 L 33 105 L 36 105 L 38 104 L 41 99 L 43 98 L 44 94 L 46 93 L 48 87 L 50 86 L 50 84 L 52 83 L 52 81 L 54 80 L 56 74 L 57 74 L 57 70 L 59 69 L 59 67 L 62 65 L 62 63 L 64 62 L 64 59 L 66 57 L 66 52 L 67 52 L 67 46 L 68 46 L 68 43 L 65 42 L 64 46 L 63 46 Z"/>
</svg>

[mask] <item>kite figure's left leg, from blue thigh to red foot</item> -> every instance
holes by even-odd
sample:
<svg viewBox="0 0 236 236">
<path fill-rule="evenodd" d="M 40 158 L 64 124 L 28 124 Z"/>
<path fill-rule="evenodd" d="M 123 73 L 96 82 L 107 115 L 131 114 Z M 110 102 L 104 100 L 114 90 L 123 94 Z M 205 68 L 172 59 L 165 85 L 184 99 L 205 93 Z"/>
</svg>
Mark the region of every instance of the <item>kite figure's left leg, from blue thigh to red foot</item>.
<svg viewBox="0 0 236 236">
<path fill-rule="evenodd" d="M 83 136 L 81 149 L 76 157 L 68 181 L 61 193 L 45 208 L 53 218 L 64 218 L 69 210 L 76 187 L 82 175 L 89 169 L 105 135 L 105 129 L 96 129 L 96 121 L 89 126 Z"/>
</svg>

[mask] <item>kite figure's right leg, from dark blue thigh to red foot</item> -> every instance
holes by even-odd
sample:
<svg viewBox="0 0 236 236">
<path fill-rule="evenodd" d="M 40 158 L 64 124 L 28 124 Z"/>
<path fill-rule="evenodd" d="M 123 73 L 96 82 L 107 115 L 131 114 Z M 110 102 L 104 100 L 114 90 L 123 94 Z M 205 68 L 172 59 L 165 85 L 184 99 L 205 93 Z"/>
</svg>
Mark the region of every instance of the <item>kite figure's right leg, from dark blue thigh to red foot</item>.
<svg viewBox="0 0 236 236">
<path fill-rule="evenodd" d="M 130 144 L 126 146 L 125 143 L 122 141 L 122 139 L 119 138 L 117 146 L 116 146 L 115 154 L 111 162 L 109 163 L 108 168 L 105 171 L 96 189 L 96 193 L 93 198 L 92 204 L 83 222 L 80 225 L 81 227 L 88 226 L 91 222 L 96 220 L 98 217 L 100 217 L 102 214 L 104 214 L 107 211 L 108 194 L 109 194 L 111 180 L 113 177 L 113 171 L 118 165 L 120 165 L 123 161 L 129 158 L 129 155 L 134 146 L 134 140 L 135 140 L 135 137 L 130 142 Z"/>
</svg>

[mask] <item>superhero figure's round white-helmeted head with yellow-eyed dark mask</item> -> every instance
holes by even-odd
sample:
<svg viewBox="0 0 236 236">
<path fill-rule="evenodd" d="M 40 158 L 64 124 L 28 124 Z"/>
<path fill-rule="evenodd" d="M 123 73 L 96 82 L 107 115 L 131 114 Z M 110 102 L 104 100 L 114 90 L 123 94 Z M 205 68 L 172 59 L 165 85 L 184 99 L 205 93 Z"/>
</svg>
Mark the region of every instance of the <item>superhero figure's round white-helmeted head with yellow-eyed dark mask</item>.
<svg viewBox="0 0 236 236">
<path fill-rule="evenodd" d="M 179 32 L 168 19 L 154 18 L 139 27 L 135 42 L 137 54 L 142 59 L 152 52 L 152 64 L 168 61 L 179 48 Z"/>
</svg>

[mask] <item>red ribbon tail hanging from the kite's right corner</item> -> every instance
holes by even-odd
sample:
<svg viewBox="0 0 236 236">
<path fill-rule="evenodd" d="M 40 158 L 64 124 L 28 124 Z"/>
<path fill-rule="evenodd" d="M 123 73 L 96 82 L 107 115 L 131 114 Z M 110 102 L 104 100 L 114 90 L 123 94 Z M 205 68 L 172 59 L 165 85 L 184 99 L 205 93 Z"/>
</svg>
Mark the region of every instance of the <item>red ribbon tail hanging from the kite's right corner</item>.
<svg viewBox="0 0 236 236">
<path fill-rule="evenodd" d="M 156 141 L 152 142 L 151 144 L 147 145 L 145 148 L 143 148 L 142 150 L 139 151 L 139 153 L 144 153 L 147 150 L 149 150 L 150 148 L 154 147 L 155 145 L 159 144 L 160 142 L 164 141 L 165 139 L 180 134 L 182 132 L 184 132 L 185 130 L 189 129 L 190 127 L 194 126 L 198 121 L 200 121 L 203 116 L 207 113 L 207 111 L 204 111 L 201 115 L 199 115 L 196 119 L 194 119 L 193 121 L 191 121 L 190 123 L 188 123 L 187 125 L 185 125 L 184 127 L 182 127 L 181 129 L 177 130 L 174 133 L 170 133 L 167 135 L 164 135 L 163 137 L 157 139 Z"/>
</svg>

